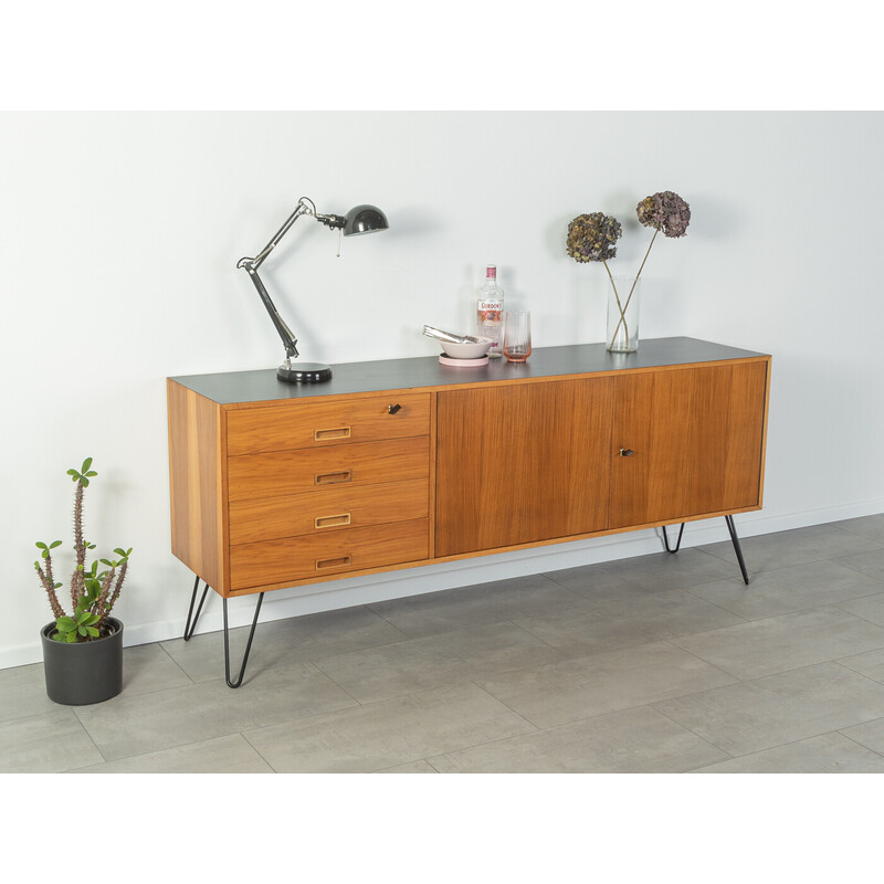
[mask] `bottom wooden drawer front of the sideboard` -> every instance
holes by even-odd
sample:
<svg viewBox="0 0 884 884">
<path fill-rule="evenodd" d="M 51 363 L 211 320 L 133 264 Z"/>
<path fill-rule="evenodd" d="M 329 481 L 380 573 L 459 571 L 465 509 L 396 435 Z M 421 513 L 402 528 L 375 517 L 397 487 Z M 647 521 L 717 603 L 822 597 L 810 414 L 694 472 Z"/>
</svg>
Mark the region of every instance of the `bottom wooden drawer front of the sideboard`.
<svg viewBox="0 0 884 884">
<path fill-rule="evenodd" d="M 417 519 L 240 544 L 230 549 L 231 587 L 235 591 L 420 561 L 429 555 L 429 530 L 428 519 Z"/>
</svg>

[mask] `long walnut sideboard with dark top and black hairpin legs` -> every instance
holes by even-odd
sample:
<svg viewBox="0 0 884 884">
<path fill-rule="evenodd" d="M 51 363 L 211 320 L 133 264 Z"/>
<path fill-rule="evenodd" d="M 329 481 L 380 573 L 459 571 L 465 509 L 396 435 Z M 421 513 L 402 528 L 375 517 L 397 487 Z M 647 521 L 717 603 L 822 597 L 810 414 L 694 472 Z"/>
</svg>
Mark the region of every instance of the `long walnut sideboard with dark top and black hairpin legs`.
<svg viewBox="0 0 884 884">
<path fill-rule="evenodd" d="M 197 577 L 185 638 L 213 589 L 235 687 L 230 597 L 260 593 L 251 646 L 267 590 L 713 516 L 748 581 L 733 515 L 761 508 L 770 361 L 661 338 L 350 362 L 313 385 L 168 378 L 172 552 Z"/>
</svg>

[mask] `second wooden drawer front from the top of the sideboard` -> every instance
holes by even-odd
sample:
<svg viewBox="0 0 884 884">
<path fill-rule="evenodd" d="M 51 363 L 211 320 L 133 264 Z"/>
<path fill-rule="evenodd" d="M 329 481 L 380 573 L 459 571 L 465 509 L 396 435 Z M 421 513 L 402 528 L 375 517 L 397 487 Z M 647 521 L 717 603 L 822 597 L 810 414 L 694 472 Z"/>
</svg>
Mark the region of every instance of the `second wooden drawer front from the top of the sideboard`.
<svg viewBox="0 0 884 884">
<path fill-rule="evenodd" d="M 228 499 L 248 501 L 381 482 L 427 478 L 430 440 L 393 439 L 228 459 Z"/>
</svg>

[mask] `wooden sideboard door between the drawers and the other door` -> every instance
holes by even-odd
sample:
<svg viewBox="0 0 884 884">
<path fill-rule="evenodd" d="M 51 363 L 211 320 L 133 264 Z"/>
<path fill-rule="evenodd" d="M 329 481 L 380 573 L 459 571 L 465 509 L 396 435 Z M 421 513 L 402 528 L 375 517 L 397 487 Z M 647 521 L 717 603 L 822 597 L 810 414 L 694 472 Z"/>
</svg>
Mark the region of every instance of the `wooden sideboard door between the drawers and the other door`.
<svg viewBox="0 0 884 884">
<path fill-rule="evenodd" d="M 436 556 L 606 527 L 612 379 L 438 398 Z"/>
</svg>

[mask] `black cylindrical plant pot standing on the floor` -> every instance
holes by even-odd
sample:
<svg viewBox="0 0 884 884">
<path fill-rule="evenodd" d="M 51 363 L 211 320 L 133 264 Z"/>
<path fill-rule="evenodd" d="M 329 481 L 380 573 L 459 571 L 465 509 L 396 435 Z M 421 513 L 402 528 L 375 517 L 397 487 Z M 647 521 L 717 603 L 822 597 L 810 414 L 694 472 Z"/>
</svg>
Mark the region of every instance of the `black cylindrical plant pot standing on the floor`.
<svg viewBox="0 0 884 884">
<path fill-rule="evenodd" d="M 55 623 L 40 631 L 46 694 L 54 703 L 86 706 L 115 697 L 123 690 L 123 623 L 107 618 L 109 635 L 92 642 L 56 642 Z"/>
</svg>

